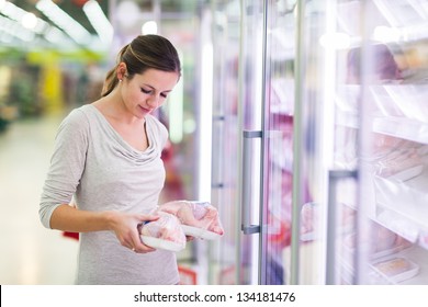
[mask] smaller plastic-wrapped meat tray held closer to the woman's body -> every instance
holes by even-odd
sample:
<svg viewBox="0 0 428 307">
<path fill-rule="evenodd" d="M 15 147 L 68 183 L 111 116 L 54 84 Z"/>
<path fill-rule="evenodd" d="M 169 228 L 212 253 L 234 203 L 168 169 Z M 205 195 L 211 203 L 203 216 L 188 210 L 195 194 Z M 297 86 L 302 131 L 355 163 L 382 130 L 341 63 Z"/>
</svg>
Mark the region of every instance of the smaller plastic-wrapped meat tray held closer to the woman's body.
<svg viewBox="0 0 428 307">
<path fill-rule="evenodd" d="M 158 211 L 159 219 L 146 223 L 140 229 L 142 241 L 149 247 L 170 251 L 185 248 L 185 235 L 178 218 Z"/>
</svg>

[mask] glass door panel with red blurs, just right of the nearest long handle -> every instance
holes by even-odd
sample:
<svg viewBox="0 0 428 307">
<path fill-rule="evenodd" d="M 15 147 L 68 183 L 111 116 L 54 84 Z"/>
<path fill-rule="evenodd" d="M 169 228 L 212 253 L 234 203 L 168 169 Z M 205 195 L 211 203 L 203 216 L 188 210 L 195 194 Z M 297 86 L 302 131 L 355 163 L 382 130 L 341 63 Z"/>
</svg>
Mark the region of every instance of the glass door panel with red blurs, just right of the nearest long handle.
<svg viewBox="0 0 428 307">
<path fill-rule="evenodd" d="M 263 1 L 260 283 L 286 284 L 293 187 L 295 4 Z"/>
</svg>

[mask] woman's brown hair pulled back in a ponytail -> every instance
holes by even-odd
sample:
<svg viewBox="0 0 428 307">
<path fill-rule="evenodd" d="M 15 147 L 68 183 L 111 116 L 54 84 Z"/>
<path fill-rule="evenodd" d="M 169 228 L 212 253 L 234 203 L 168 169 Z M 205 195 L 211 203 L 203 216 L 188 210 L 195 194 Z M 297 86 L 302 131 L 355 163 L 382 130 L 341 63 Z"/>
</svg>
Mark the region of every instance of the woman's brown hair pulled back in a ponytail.
<svg viewBox="0 0 428 307">
<path fill-rule="evenodd" d="M 117 86 L 116 68 L 121 62 L 125 62 L 129 79 L 150 68 L 181 73 L 180 59 L 171 42 L 160 35 L 138 35 L 120 50 L 115 67 L 106 73 L 101 96 L 110 94 Z"/>
</svg>

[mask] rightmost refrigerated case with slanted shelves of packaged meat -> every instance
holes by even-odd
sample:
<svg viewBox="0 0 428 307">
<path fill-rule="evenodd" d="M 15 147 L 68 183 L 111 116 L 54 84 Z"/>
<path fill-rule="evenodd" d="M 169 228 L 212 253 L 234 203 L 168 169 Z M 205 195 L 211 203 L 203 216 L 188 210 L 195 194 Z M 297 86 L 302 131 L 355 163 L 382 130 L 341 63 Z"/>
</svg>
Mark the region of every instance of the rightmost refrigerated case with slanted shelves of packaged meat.
<svg viewBox="0 0 428 307">
<path fill-rule="evenodd" d="M 350 44 L 336 50 L 334 164 L 357 172 L 358 201 L 341 202 L 356 211 L 357 224 L 336 235 L 331 283 L 428 283 L 427 8 L 426 1 L 337 3 L 336 32 Z M 356 12 L 360 21 L 348 18 Z M 337 198 L 346 195 L 337 190 Z"/>
</svg>

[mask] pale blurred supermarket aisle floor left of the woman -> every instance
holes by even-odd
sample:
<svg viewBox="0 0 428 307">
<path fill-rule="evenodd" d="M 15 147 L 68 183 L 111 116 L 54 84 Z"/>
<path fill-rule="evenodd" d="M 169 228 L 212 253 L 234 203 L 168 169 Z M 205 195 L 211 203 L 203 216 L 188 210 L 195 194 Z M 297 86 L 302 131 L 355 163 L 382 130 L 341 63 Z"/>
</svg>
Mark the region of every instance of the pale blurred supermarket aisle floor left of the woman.
<svg viewBox="0 0 428 307">
<path fill-rule="evenodd" d="M 38 200 L 61 116 L 0 135 L 0 284 L 72 284 L 78 242 L 45 229 Z"/>
</svg>

